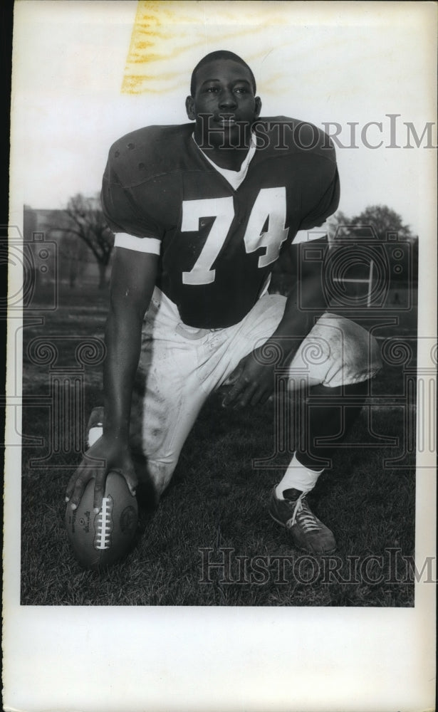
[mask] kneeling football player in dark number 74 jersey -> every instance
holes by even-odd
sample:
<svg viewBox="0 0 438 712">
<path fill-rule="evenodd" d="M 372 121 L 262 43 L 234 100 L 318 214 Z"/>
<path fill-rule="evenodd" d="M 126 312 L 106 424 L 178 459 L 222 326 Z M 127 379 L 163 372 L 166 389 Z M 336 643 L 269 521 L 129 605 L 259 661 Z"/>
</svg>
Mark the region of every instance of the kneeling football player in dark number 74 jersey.
<svg viewBox="0 0 438 712">
<path fill-rule="evenodd" d="M 194 68 L 186 109 L 190 123 L 141 128 L 110 149 L 102 203 L 115 251 L 103 432 L 66 499 L 75 508 L 95 478 L 98 511 L 109 471 L 135 492 L 130 419 L 139 361 L 142 449 L 157 496 L 209 394 L 229 384 L 225 407 L 256 406 L 273 393 L 280 366 L 291 391 L 304 389 L 314 404 L 268 510 L 298 548 L 329 553 L 335 538 L 307 494 L 380 368 L 375 340 L 325 313 L 320 261 L 303 258 L 309 240 L 317 238 L 319 252 L 326 245 L 321 226 L 338 207 L 335 151 L 315 126 L 261 119 L 254 75 L 228 51 Z M 297 273 L 288 298 L 268 293 L 285 250 Z"/>
</svg>

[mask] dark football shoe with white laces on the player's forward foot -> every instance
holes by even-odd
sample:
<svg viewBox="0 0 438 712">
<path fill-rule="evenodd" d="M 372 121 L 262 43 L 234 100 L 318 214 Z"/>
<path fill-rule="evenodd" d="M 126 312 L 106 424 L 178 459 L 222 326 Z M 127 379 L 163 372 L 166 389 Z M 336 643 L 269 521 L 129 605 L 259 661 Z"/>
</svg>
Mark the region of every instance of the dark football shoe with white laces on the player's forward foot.
<svg viewBox="0 0 438 712">
<path fill-rule="evenodd" d="M 331 554 L 336 548 L 335 537 L 309 508 L 307 494 L 287 489 L 283 492 L 284 499 L 278 499 L 273 488 L 269 514 L 291 533 L 296 547 L 312 554 Z"/>
</svg>

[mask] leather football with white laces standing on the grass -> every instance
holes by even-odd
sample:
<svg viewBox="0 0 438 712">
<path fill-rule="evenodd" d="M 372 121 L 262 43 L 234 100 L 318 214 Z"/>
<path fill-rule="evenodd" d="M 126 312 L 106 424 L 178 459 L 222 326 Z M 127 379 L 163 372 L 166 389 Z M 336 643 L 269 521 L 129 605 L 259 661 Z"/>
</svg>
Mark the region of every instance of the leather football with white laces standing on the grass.
<svg viewBox="0 0 438 712">
<path fill-rule="evenodd" d="M 73 553 L 86 569 L 111 566 L 129 553 L 138 523 L 137 500 L 125 479 L 110 472 L 100 511 L 93 511 L 94 479 L 88 482 L 77 509 L 68 504 L 66 528 Z"/>
</svg>

